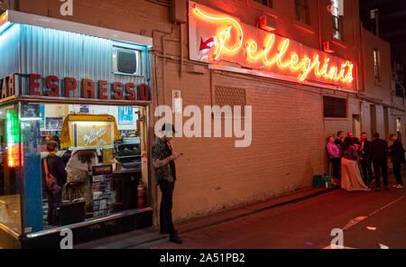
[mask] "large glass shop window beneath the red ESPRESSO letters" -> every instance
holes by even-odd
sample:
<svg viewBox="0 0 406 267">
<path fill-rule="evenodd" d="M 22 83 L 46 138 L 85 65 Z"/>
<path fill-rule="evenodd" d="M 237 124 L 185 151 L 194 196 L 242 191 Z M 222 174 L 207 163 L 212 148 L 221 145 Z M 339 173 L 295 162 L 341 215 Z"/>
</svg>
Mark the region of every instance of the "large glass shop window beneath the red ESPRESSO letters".
<svg viewBox="0 0 406 267">
<path fill-rule="evenodd" d="M 143 106 L 29 103 L 21 109 L 24 156 L 32 156 L 35 170 L 29 180 L 39 181 L 42 228 L 138 207 L 137 186 L 143 181 L 148 187 Z M 47 183 L 44 159 L 58 190 Z"/>
</svg>

